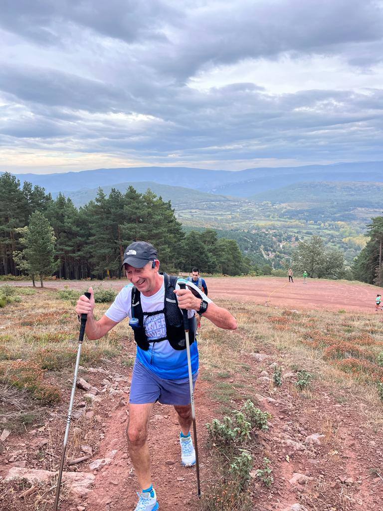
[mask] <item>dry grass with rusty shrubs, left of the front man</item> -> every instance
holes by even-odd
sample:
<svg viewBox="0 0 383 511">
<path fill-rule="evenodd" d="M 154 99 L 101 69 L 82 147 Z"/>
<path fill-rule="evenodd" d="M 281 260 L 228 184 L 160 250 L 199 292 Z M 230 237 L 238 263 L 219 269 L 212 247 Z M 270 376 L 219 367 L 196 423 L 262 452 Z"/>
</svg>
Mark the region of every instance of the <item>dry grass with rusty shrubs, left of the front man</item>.
<svg viewBox="0 0 383 511">
<path fill-rule="evenodd" d="M 11 389 L 13 396 L 2 401 L 1 413 L 15 431 L 28 421 L 20 413 L 20 399 L 31 414 L 41 405 L 60 401 L 63 381 L 75 367 L 79 335 L 77 314 L 69 302 L 60 300 L 53 290 L 29 294 L 22 289 L 20 301 L 0 309 L 0 384 Z M 97 304 L 95 314 L 100 317 L 106 307 Z M 119 328 L 99 341 L 86 339 L 81 364 L 96 366 L 103 358 L 117 355 L 124 334 Z"/>
</svg>

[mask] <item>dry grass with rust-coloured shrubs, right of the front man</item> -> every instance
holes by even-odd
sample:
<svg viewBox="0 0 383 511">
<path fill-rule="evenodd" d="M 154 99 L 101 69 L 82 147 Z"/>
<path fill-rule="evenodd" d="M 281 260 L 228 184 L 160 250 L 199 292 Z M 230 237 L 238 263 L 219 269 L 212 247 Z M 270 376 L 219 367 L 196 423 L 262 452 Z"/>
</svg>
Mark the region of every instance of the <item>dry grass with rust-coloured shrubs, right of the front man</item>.
<svg viewBox="0 0 383 511">
<path fill-rule="evenodd" d="M 246 373 L 241 365 L 244 354 L 268 353 L 269 347 L 276 348 L 283 353 L 286 368 L 305 369 L 333 388 L 334 396 L 357 400 L 367 422 L 383 425 L 375 386 L 383 377 L 383 367 L 377 363 L 377 356 L 383 351 L 379 315 L 276 312 L 250 303 L 222 305 L 236 316 L 238 330 L 224 332 L 204 322 L 199 347 L 204 366 L 212 371 L 211 381 L 219 371 L 236 373 L 236 378 Z M 310 390 L 306 393 L 309 397 Z"/>
</svg>

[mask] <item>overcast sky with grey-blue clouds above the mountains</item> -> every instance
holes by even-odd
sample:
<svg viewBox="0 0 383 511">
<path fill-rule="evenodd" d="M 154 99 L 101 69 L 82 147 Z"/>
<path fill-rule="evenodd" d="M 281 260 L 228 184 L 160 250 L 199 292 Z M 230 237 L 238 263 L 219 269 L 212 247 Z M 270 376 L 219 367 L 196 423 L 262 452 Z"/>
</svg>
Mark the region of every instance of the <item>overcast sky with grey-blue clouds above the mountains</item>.
<svg viewBox="0 0 383 511">
<path fill-rule="evenodd" d="M 0 0 L 0 170 L 383 160 L 383 2 Z"/>
</svg>

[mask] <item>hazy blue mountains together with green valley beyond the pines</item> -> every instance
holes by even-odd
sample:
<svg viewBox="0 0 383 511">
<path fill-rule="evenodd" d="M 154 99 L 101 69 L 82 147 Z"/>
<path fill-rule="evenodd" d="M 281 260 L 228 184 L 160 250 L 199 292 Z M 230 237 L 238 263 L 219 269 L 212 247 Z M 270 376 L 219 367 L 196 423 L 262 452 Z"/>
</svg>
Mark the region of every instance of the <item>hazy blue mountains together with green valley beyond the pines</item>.
<svg viewBox="0 0 383 511">
<path fill-rule="evenodd" d="M 219 229 L 254 261 L 266 258 L 276 267 L 290 257 L 297 239 L 313 234 L 344 250 L 351 264 L 366 242 L 366 225 L 383 208 L 383 161 L 238 172 L 137 167 L 17 178 L 53 197 L 61 192 L 77 207 L 94 199 L 99 187 L 106 195 L 112 188 L 125 193 L 129 185 L 140 193 L 150 188 L 171 200 L 185 229 Z"/>
</svg>

